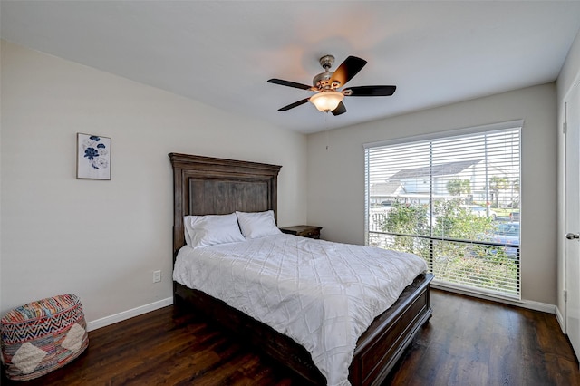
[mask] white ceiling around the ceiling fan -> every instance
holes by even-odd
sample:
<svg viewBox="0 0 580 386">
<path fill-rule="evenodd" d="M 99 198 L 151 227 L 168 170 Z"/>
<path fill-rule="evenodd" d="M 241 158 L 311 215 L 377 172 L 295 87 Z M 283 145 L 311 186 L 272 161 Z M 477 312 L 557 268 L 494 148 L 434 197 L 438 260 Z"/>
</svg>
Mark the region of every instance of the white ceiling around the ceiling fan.
<svg viewBox="0 0 580 386">
<path fill-rule="evenodd" d="M 6 1 L 3 39 L 304 133 L 553 82 L 580 1 Z M 318 59 L 368 61 L 334 117 L 306 103 Z"/>
</svg>

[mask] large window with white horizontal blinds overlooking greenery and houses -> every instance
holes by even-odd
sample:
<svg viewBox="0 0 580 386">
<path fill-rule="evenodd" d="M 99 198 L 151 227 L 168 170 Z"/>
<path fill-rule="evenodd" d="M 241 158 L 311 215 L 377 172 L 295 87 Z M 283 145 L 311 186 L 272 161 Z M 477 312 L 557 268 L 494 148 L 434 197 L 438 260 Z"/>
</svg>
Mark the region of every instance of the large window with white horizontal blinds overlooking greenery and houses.
<svg viewBox="0 0 580 386">
<path fill-rule="evenodd" d="M 367 244 L 422 256 L 439 285 L 519 299 L 522 123 L 365 145 Z"/>
</svg>

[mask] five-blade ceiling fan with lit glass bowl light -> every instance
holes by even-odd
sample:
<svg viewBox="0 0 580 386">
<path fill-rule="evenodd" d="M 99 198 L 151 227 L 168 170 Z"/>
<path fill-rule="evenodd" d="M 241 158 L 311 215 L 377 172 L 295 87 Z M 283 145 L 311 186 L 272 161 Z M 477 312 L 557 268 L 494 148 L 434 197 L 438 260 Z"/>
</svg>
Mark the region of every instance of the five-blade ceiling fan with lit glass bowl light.
<svg viewBox="0 0 580 386">
<path fill-rule="evenodd" d="M 344 89 L 346 82 L 353 79 L 354 75 L 360 72 L 366 64 L 364 59 L 356 56 L 346 58 L 334 72 L 330 71 L 334 64 L 333 55 L 324 55 L 319 62 L 323 66 L 324 72 L 314 76 L 313 86 L 275 78 L 268 80 L 270 83 L 316 92 L 311 97 L 295 101 L 278 109 L 278 111 L 288 111 L 310 101 L 319 111 L 331 111 L 333 115 L 340 115 L 346 112 L 343 103 L 345 96 L 391 96 L 397 89 L 397 86 L 357 86 Z M 340 90 L 341 88 L 343 89 Z"/>
</svg>

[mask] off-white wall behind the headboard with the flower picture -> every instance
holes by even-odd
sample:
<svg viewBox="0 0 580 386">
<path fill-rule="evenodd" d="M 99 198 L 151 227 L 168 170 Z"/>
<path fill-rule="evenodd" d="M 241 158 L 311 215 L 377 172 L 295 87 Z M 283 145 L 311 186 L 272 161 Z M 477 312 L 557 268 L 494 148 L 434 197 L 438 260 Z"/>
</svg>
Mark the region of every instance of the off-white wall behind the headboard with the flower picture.
<svg viewBox="0 0 580 386">
<path fill-rule="evenodd" d="M 172 151 L 282 165 L 278 222 L 304 223 L 303 134 L 12 43 L 1 57 L 0 313 L 74 293 L 94 322 L 170 301 Z M 110 181 L 75 178 L 77 132 L 111 137 Z"/>
</svg>

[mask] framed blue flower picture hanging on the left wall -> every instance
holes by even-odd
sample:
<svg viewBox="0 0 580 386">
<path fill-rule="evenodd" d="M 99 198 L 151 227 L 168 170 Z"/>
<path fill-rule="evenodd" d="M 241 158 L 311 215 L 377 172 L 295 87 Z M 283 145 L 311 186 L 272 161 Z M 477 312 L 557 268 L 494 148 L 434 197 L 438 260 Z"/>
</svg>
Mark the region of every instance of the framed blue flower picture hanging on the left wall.
<svg viewBox="0 0 580 386">
<path fill-rule="evenodd" d="M 111 179 L 111 138 L 76 134 L 76 178 Z"/>
</svg>

